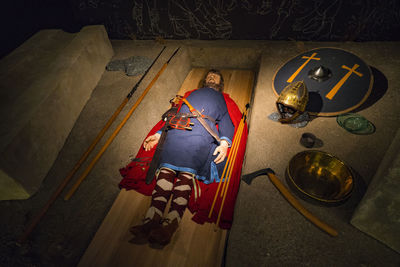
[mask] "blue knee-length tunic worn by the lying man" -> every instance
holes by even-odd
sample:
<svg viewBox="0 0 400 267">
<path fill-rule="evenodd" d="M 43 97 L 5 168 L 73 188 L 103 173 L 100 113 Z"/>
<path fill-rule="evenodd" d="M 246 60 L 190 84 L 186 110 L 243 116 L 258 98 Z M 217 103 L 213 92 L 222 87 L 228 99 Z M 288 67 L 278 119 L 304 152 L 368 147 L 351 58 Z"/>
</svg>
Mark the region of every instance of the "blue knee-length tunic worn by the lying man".
<svg viewBox="0 0 400 267">
<path fill-rule="evenodd" d="M 227 140 L 229 144 L 232 143 L 234 126 L 222 93 L 212 88 L 200 88 L 193 91 L 187 100 L 195 109 L 214 118 L 218 129 L 214 122 L 208 119 L 205 121 L 219 133 L 221 139 Z M 185 104 L 182 104 L 180 112 L 190 113 Z M 218 142 L 197 119 L 191 118 L 191 122 L 194 123 L 191 131 L 168 130 L 161 152 L 160 168 L 168 167 L 176 171 L 190 172 L 205 183 L 211 183 L 214 180 L 219 182 L 227 158 L 215 164 L 214 159 L 218 155 L 214 156 L 213 153 L 219 145 Z"/>
</svg>

